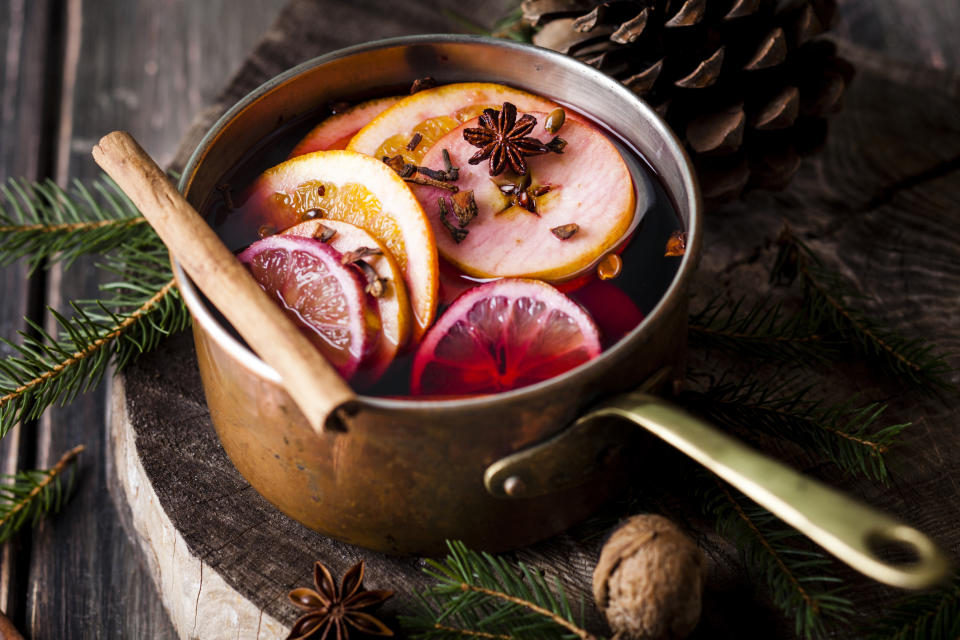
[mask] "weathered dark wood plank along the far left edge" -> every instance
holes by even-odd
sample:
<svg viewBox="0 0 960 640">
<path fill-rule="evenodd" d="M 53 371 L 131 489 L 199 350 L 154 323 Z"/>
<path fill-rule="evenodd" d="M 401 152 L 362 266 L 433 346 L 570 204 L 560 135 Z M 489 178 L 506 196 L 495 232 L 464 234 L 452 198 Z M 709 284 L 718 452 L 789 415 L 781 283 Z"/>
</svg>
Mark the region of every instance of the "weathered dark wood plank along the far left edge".
<svg viewBox="0 0 960 640">
<path fill-rule="evenodd" d="M 46 0 L 11 0 L 0 6 L 0 180 L 35 179 L 47 170 L 49 135 L 44 127 L 51 97 L 45 71 L 56 47 L 50 46 L 51 6 Z M 49 54 L 47 53 L 49 51 Z M 26 279 L 26 269 L 15 264 L 0 269 L 0 335 L 15 340 L 26 327 L 30 289 L 40 286 Z M 0 357 L 10 354 L 0 345 Z M 32 466 L 32 425 L 15 427 L 0 441 L 0 473 Z M 0 611 L 23 627 L 29 568 L 30 534 L 0 546 Z"/>
</svg>

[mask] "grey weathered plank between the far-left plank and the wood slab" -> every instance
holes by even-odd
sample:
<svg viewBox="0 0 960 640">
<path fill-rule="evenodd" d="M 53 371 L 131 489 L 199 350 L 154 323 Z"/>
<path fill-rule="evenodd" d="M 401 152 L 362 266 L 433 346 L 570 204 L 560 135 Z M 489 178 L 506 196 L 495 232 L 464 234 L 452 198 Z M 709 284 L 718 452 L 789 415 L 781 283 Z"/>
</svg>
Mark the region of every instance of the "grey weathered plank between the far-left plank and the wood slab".
<svg viewBox="0 0 960 640">
<path fill-rule="evenodd" d="M 162 162 L 193 113 L 243 60 L 281 6 L 262 2 L 69 0 L 56 177 L 98 175 L 89 152 L 125 128 Z M 51 273 L 48 302 L 93 297 L 94 260 Z M 26 631 L 34 638 L 166 638 L 166 620 L 139 551 L 107 492 L 103 393 L 81 397 L 42 421 L 38 464 L 87 446 L 78 491 L 34 538 Z"/>
</svg>

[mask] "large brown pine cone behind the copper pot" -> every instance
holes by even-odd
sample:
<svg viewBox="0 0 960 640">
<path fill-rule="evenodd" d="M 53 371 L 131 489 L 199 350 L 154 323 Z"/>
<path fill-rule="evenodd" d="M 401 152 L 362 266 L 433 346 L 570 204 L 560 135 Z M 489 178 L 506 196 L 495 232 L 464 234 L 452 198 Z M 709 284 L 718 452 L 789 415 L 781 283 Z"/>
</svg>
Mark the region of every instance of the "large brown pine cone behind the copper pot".
<svg viewBox="0 0 960 640">
<path fill-rule="evenodd" d="M 533 41 L 623 82 L 685 142 L 708 205 L 782 189 L 852 67 L 817 39 L 835 0 L 524 0 Z"/>
</svg>

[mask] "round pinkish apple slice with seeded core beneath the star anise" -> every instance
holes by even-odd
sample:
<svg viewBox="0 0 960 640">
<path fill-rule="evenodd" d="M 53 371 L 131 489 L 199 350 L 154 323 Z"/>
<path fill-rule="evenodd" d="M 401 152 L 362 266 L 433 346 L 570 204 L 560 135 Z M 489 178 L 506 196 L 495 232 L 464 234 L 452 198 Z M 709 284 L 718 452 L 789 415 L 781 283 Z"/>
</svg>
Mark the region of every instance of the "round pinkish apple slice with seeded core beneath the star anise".
<svg viewBox="0 0 960 640">
<path fill-rule="evenodd" d="M 554 135 L 544 128 L 547 114 L 531 115 L 537 124 L 528 135 L 550 141 Z M 451 197 L 431 186 L 413 188 L 433 226 L 440 255 L 452 265 L 475 278 L 562 282 L 585 272 L 626 238 L 637 208 L 633 180 L 602 131 L 567 114 L 558 133 L 567 143 L 562 153 L 525 157 L 526 176 L 508 170 L 492 177 L 487 160 L 468 162 L 478 149 L 464 140 L 463 132 L 477 126 L 478 121 L 471 120 L 454 129 L 423 159 L 425 166 L 443 166 L 446 150 L 459 167 L 460 194 Z M 472 192 L 477 215 L 461 226 L 454 216 L 454 198 L 465 191 Z"/>
</svg>

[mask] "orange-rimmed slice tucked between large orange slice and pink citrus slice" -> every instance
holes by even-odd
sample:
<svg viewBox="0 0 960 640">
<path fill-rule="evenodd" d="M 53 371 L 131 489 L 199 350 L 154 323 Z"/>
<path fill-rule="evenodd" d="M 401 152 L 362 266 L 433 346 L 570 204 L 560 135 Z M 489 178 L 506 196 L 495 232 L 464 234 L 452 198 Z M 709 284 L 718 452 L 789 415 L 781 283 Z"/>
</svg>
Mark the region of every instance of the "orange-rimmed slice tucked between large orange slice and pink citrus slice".
<svg viewBox="0 0 960 640">
<path fill-rule="evenodd" d="M 373 298 L 380 311 L 380 336 L 357 373 L 361 385 L 373 384 L 383 375 L 396 357 L 397 351 L 410 337 L 410 301 L 407 299 L 407 287 L 403 283 L 403 271 L 383 244 L 360 227 L 346 222 L 311 220 L 290 227 L 283 234 L 318 238 L 326 229 L 334 232 L 327 244 L 341 254 L 361 248 L 381 252 L 381 255 L 362 258 L 373 267 L 379 277 L 386 279 L 383 295 Z"/>
</svg>

